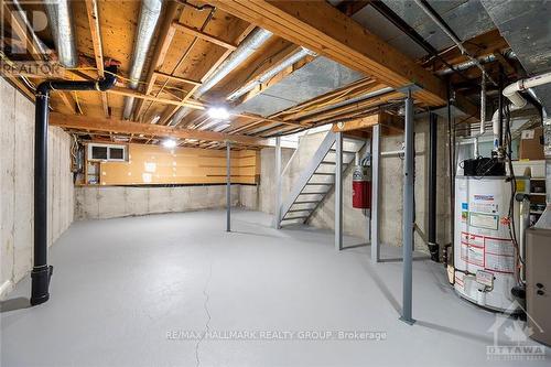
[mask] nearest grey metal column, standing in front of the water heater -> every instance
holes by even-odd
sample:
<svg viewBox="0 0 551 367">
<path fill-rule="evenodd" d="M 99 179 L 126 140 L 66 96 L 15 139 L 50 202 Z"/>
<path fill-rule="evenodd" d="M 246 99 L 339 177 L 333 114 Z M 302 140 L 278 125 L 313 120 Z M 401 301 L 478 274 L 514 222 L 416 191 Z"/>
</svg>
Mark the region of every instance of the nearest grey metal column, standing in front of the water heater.
<svg viewBox="0 0 551 367">
<path fill-rule="evenodd" d="M 403 237 L 403 289 L 402 289 L 402 316 L 401 321 L 412 324 L 411 317 L 412 303 L 412 256 L 413 256 L 413 98 L 411 89 L 407 90 L 406 98 L 406 137 L 404 137 L 404 162 L 403 162 L 403 216 L 402 216 L 402 237 Z"/>
</svg>

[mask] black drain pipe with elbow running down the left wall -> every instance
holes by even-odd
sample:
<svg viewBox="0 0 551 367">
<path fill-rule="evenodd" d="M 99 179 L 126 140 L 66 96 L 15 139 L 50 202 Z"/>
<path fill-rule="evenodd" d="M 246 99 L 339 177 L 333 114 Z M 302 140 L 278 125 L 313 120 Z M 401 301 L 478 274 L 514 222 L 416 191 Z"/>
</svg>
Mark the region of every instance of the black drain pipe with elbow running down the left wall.
<svg viewBox="0 0 551 367">
<path fill-rule="evenodd" d="M 31 305 L 50 299 L 53 267 L 47 265 L 47 120 L 51 90 L 98 90 L 117 82 L 117 66 L 106 69 L 106 77 L 95 82 L 46 80 L 36 88 L 34 130 L 34 260 L 31 272 Z"/>
</svg>

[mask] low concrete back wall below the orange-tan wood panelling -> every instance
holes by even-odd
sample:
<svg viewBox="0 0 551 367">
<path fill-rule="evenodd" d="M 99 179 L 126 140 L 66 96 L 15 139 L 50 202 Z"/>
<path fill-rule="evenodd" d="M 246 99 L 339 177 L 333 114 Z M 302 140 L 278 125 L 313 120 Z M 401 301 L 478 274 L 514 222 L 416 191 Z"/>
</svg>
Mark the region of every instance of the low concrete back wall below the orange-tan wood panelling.
<svg viewBox="0 0 551 367">
<path fill-rule="evenodd" d="M 240 205 L 240 187 L 241 185 L 231 185 L 233 206 Z M 226 185 L 82 186 L 75 188 L 75 217 L 78 220 L 199 211 L 224 206 L 226 206 Z"/>
</svg>

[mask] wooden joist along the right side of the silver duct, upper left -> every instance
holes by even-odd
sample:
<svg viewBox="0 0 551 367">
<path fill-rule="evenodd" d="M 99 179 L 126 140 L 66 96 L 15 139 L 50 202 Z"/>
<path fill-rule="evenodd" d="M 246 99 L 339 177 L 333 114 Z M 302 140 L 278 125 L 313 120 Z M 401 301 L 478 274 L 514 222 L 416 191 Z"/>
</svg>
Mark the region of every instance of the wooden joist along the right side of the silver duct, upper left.
<svg viewBox="0 0 551 367">
<path fill-rule="evenodd" d="M 163 21 L 159 30 L 155 50 L 152 53 L 152 60 L 149 65 L 148 74 L 145 75 L 145 88 L 143 89 L 143 93 L 145 95 L 151 94 L 151 89 L 155 85 L 155 71 L 160 65 L 163 64 L 172 40 L 174 39 L 176 30 L 172 25 L 172 22 L 174 21 L 174 18 L 176 18 L 180 6 L 177 1 L 169 1 Z M 142 109 L 143 99 L 136 102 L 134 116 L 141 116 Z"/>
</svg>

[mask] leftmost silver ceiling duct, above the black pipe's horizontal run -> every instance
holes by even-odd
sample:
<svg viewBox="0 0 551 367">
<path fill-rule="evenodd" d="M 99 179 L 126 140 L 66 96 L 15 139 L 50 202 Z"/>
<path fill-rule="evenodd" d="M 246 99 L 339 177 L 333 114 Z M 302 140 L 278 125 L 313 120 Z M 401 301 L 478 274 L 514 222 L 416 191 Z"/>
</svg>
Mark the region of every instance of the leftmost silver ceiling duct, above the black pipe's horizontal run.
<svg viewBox="0 0 551 367">
<path fill-rule="evenodd" d="M 54 36 L 60 63 L 65 67 L 76 67 L 78 55 L 75 45 L 75 30 L 69 0 L 45 1 L 50 29 Z"/>
</svg>

